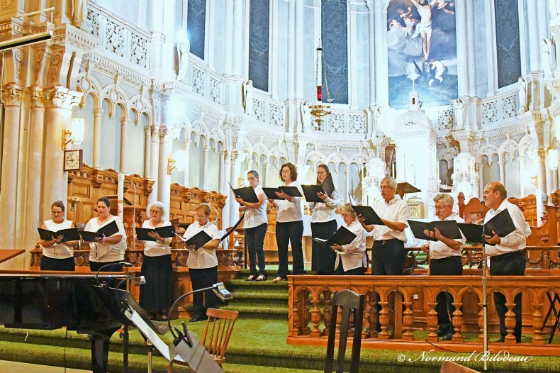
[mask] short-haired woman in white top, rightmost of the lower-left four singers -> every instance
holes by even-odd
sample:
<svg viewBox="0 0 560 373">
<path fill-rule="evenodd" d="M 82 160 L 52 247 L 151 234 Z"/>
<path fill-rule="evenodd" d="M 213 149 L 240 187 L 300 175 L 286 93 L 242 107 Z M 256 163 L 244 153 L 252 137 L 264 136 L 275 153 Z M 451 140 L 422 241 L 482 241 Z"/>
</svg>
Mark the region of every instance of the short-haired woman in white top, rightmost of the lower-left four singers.
<svg viewBox="0 0 560 373">
<path fill-rule="evenodd" d="M 220 244 L 220 232 L 217 226 L 208 221 L 208 216 L 210 216 L 209 204 L 196 206 L 196 221 L 186 228 L 183 236 L 188 240 L 203 230 L 212 238 L 198 250 L 194 250 L 196 245 L 186 247 L 189 249 L 186 265 L 189 266 L 193 290 L 204 289 L 218 282 L 218 257 L 215 255 L 215 250 Z M 204 301 L 202 292 L 194 293 L 191 323 L 206 320 L 206 310 L 215 308 L 215 301 L 215 295 L 211 290 L 205 291 Z"/>
</svg>

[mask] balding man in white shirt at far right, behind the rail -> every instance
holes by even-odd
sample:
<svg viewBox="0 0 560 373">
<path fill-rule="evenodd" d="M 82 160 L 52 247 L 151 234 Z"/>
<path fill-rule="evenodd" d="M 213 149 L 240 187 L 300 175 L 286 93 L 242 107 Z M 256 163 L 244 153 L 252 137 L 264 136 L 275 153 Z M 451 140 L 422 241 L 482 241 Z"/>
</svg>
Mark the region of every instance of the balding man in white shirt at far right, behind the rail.
<svg viewBox="0 0 560 373">
<path fill-rule="evenodd" d="M 482 198 L 486 206 L 490 207 L 490 211 L 486 213 L 486 221 L 490 221 L 501 211 L 508 210 L 515 226 L 515 230 L 505 237 L 498 237 L 496 234 L 485 236 L 486 243 L 490 244 L 486 245 L 486 255 L 490 257 L 491 276 L 523 276 L 527 265 L 527 255 L 523 250 L 527 245 L 527 236 L 525 235 L 525 217 L 522 211 L 508 202 L 508 192 L 499 182 L 488 183 L 484 188 Z M 513 308 L 516 321 L 513 335 L 515 335 L 517 343 L 521 342 L 521 298 L 521 293 L 515 296 L 515 307 Z M 508 335 L 505 329 L 505 313 L 508 311 L 505 306 L 505 296 L 495 292 L 494 304 L 498 318 L 500 318 L 501 338 L 498 342 L 504 342 Z"/>
</svg>

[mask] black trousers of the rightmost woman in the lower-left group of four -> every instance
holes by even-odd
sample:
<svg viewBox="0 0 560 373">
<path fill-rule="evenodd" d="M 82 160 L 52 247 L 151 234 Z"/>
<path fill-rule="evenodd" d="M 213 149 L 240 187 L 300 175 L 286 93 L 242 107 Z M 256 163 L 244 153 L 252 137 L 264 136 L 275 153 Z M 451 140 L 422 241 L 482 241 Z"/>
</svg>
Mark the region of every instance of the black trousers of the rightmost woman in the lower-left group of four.
<svg viewBox="0 0 560 373">
<path fill-rule="evenodd" d="M 193 290 L 204 289 L 218 282 L 218 266 L 211 268 L 189 268 Z M 212 290 L 198 291 L 193 294 L 193 313 L 191 318 L 205 318 L 208 308 L 215 308 L 215 295 Z"/>
</svg>

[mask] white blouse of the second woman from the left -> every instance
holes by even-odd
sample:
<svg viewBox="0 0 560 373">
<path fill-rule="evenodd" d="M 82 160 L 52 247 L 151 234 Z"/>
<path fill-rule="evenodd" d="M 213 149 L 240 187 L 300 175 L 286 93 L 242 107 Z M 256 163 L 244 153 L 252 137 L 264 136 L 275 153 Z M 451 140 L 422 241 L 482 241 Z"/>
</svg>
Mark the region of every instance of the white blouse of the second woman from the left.
<svg viewBox="0 0 560 373">
<path fill-rule="evenodd" d="M 99 225 L 97 218 L 91 218 L 86 224 L 84 230 L 96 232 L 99 228 L 106 226 L 108 223 L 115 221 L 118 226 L 118 232 L 114 235 L 122 235 L 123 238 L 118 243 L 90 243 L 89 244 L 89 261 L 90 262 L 118 262 L 125 259 L 126 250 L 126 232 L 123 222 L 118 216 L 111 215 L 111 218 Z"/>
</svg>

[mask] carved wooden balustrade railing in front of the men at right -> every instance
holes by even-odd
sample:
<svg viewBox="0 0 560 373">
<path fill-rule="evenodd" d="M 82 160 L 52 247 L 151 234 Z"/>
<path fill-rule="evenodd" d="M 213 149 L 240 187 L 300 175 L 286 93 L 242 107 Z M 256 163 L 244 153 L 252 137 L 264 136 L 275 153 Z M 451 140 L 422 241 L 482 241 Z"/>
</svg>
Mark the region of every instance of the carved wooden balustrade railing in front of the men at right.
<svg viewBox="0 0 560 373">
<path fill-rule="evenodd" d="M 454 352 L 480 352 L 483 349 L 482 285 L 480 276 L 289 276 L 289 320 L 287 343 L 293 345 L 326 345 L 328 321 L 332 310 L 332 296 L 336 291 L 351 289 L 366 295 L 364 311 L 364 329 L 362 330 L 362 347 L 401 349 L 401 350 L 439 350 L 438 347 Z M 449 342 L 438 342 L 436 296 L 440 291 L 449 291 L 454 297 L 455 311 L 452 316 L 454 335 Z M 493 304 L 493 291 L 500 291 L 506 298 L 505 325 L 508 335 L 505 343 L 491 344 L 493 350 L 508 350 L 510 353 L 529 355 L 560 356 L 560 345 L 547 344 L 544 340 L 544 315 L 549 309 L 547 293 L 560 294 L 560 276 L 494 276 L 486 291 L 488 304 Z M 527 296 L 531 325 L 528 331 L 531 343 L 516 343 L 513 329 L 515 314 L 513 299 L 517 293 Z M 377 314 L 374 304 L 375 294 L 379 294 L 381 311 Z M 477 299 L 478 325 L 474 342 L 464 340 L 464 313 L 462 307 L 468 298 Z M 390 328 L 391 302 L 394 296 L 394 335 L 388 333 Z M 418 300 L 420 299 L 420 300 Z M 424 299 L 422 301 L 422 299 Z M 427 306 L 426 321 L 422 323 L 413 317 L 413 308 Z M 398 315 L 402 315 L 398 317 Z M 381 332 L 374 330 L 379 317 Z M 412 330 L 422 328 L 429 330 L 425 340 L 415 340 Z M 391 325 L 392 326 L 392 325 Z M 337 323 L 340 328 L 340 323 Z M 337 331 L 338 333 L 338 331 Z M 350 335 L 352 333 L 349 333 Z M 524 333 L 525 334 L 525 333 Z M 530 347 L 528 349 L 527 347 Z"/>
</svg>

